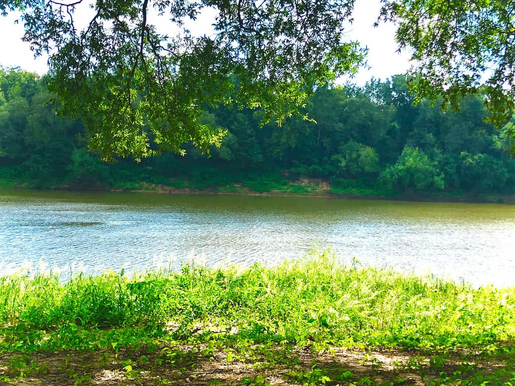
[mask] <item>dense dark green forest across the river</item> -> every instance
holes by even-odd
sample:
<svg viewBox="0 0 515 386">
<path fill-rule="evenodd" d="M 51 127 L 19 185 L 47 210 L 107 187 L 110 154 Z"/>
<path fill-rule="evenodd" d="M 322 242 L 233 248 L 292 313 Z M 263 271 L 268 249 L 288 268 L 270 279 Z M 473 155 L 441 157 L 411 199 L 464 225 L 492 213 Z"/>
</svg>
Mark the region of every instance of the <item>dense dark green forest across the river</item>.
<svg viewBox="0 0 515 386">
<path fill-rule="evenodd" d="M 414 106 L 406 78 L 363 87 L 320 87 L 304 110 L 281 126 L 261 127 L 259 110 L 207 109 L 204 124 L 226 130 L 221 147 L 202 154 L 161 152 L 140 162 L 106 163 L 88 151 L 80 121 L 56 114 L 44 77 L 0 69 L 0 181 L 30 187 L 176 188 L 358 195 L 512 194 L 515 160 L 509 136 L 487 115 L 482 95 L 459 112 L 437 103 Z M 158 149 L 157 149 L 158 150 Z M 304 181 L 303 184 L 299 181 Z M 306 181 L 308 181 L 306 185 Z M 311 181 L 311 182 L 310 182 Z"/>
</svg>

